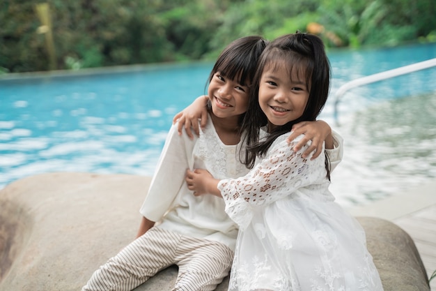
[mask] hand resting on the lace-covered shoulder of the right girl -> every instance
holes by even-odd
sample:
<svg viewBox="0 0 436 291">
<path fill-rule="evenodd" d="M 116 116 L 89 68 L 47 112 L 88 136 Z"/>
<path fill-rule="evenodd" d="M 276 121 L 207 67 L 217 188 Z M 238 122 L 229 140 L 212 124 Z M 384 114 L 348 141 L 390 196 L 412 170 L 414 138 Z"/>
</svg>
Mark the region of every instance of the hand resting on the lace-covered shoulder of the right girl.
<svg viewBox="0 0 436 291">
<path fill-rule="evenodd" d="M 312 144 L 304 151 L 303 158 L 308 157 L 313 151 L 315 152 L 311 160 L 317 158 L 322 153 L 322 144 L 324 142 L 326 149 L 333 149 L 332 128 L 325 121 L 302 121 L 294 124 L 292 130 L 293 133 L 289 135 L 288 142 L 292 142 L 298 135 L 304 135 L 302 140 L 293 148 L 294 151 L 299 151 L 309 140 L 312 141 Z"/>
</svg>

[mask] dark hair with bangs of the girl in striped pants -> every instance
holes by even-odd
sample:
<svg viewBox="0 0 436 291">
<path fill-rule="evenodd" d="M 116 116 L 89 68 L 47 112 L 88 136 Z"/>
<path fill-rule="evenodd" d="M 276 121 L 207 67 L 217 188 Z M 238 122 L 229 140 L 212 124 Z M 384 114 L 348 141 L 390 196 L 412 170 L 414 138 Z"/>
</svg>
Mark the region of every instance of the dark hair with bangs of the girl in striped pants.
<svg viewBox="0 0 436 291">
<path fill-rule="evenodd" d="M 219 54 L 215 66 L 213 66 L 208 77 L 208 84 L 213 75 L 219 72 L 223 77 L 230 80 L 237 80 L 243 86 L 251 86 L 256 73 L 256 65 L 260 54 L 267 45 L 267 40 L 260 36 L 245 36 L 233 40 Z M 207 86 L 207 85 L 206 85 Z M 251 96 L 251 95 L 250 95 Z M 210 101 L 208 110 L 210 110 Z M 240 117 L 240 125 L 245 114 Z"/>
</svg>

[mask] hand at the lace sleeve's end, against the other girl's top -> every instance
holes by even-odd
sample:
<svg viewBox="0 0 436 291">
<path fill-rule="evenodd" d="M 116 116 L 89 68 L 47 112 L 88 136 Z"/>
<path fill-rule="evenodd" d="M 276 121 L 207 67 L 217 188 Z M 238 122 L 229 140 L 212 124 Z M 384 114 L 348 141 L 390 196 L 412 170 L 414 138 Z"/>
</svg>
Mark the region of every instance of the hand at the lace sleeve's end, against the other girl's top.
<svg viewBox="0 0 436 291">
<path fill-rule="evenodd" d="M 194 191 L 194 196 L 200 196 L 209 193 L 221 197 L 221 193 L 217 188 L 219 180 L 214 179 L 212 174 L 210 174 L 210 172 L 207 170 L 187 170 L 185 180 L 188 189 Z"/>
</svg>

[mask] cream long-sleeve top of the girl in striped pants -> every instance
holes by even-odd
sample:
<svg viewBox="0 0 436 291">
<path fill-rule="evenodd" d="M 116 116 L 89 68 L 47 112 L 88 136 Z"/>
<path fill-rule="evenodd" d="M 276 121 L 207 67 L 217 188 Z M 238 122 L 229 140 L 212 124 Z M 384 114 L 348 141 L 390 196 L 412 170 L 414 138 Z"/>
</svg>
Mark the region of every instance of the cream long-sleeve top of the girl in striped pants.
<svg viewBox="0 0 436 291">
<path fill-rule="evenodd" d="M 342 139 L 334 133 L 335 149 L 328 151 L 332 168 L 342 158 Z M 205 169 L 216 179 L 244 176 L 249 169 L 240 163 L 242 142 L 221 142 L 208 117 L 208 124 L 194 140 L 178 135 L 171 126 L 140 213 L 159 227 L 180 234 L 219 241 L 232 250 L 238 225 L 228 217 L 224 200 L 215 195 L 194 196 L 185 182 L 186 170 Z M 292 151 L 292 149 L 289 149 Z"/>
</svg>

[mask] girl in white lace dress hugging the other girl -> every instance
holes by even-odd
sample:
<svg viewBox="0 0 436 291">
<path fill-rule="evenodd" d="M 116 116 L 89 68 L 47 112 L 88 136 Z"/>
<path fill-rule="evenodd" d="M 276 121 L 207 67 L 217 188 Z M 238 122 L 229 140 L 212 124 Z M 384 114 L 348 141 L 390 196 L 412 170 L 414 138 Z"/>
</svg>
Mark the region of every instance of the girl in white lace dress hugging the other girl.
<svg viewBox="0 0 436 291">
<path fill-rule="evenodd" d="M 222 196 L 240 226 L 229 290 L 382 290 L 364 230 L 328 190 L 326 156 L 311 160 L 287 147 L 293 124 L 315 120 L 325 105 L 329 75 L 317 36 L 274 40 L 260 57 L 244 119 L 252 170 L 221 181 L 187 171 L 188 188 Z"/>
</svg>

